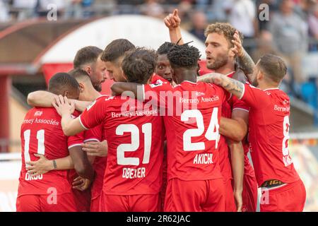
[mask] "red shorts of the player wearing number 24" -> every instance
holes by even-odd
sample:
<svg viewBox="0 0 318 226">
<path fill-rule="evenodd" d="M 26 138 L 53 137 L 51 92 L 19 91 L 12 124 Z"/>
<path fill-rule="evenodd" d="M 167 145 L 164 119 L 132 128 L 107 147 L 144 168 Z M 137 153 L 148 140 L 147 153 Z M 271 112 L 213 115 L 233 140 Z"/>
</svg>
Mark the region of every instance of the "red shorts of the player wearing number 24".
<svg viewBox="0 0 318 226">
<path fill-rule="evenodd" d="M 225 210 L 223 179 L 167 182 L 165 212 L 223 212 Z"/>
</svg>

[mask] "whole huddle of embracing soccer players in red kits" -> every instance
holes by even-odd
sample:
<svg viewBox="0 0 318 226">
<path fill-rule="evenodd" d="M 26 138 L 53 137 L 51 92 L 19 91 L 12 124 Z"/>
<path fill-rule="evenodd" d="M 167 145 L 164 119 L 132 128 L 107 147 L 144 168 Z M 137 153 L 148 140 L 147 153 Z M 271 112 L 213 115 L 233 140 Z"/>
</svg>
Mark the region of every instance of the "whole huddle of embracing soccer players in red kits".
<svg viewBox="0 0 318 226">
<path fill-rule="evenodd" d="M 258 187 L 261 211 L 303 210 L 284 61 L 255 65 L 240 32 L 213 23 L 206 71 L 177 10 L 164 22 L 171 42 L 158 51 L 125 39 L 84 47 L 73 70 L 28 95 L 17 211 L 254 212 Z"/>
</svg>

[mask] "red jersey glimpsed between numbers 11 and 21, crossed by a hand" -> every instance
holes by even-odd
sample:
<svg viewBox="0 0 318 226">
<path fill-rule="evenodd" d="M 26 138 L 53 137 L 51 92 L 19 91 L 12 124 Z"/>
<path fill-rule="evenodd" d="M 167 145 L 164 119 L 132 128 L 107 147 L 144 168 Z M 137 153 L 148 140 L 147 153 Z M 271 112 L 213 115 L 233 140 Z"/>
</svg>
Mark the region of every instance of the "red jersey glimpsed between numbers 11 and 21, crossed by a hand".
<svg viewBox="0 0 318 226">
<path fill-rule="evenodd" d="M 95 126 L 93 129 L 87 130 L 84 133 L 84 143 L 90 141 L 103 141 L 102 138 L 102 124 Z M 104 180 L 104 174 L 106 169 L 107 157 L 95 157 L 93 162 L 93 168 L 95 170 L 95 179 L 91 189 L 91 198 L 97 198 L 102 192 L 102 182 Z"/>
</svg>

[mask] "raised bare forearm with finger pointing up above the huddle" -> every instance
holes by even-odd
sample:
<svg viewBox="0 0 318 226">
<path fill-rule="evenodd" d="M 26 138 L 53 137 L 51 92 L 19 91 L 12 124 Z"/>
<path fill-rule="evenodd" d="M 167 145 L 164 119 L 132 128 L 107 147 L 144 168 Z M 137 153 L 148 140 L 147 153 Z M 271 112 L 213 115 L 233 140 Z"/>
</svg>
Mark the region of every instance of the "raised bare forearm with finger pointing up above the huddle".
<svg viewBox="0 0 318 226">
<path fill-rule="evenodd" d="M 178 44 L 183 44 L 180 29 L 181 19 L 179 18 L 177 8 L 173 11 L 173 13 L 170 13 L 168 16 L 166 16 L 163 21 L 165 22 L 167 28 L 169 28 L 170 42 L 178 42 Z"/>
</svg>

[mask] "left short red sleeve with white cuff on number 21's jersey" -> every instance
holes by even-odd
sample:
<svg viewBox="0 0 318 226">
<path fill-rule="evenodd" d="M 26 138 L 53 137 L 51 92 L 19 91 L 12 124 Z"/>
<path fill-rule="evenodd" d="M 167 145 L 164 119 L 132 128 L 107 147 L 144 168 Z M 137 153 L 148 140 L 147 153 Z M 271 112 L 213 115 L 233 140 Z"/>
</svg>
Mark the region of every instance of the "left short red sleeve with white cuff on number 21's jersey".
<svg viewBox="0 0 318 226">
<path fill-rule="evenodd" d="M 102 124 L 106 117 L 107 100 L 112 97 L 100 97 L 88 106 L 79 119 L 83 128 L 92 129 Z"/>
</svg>

